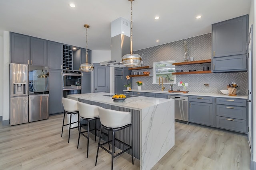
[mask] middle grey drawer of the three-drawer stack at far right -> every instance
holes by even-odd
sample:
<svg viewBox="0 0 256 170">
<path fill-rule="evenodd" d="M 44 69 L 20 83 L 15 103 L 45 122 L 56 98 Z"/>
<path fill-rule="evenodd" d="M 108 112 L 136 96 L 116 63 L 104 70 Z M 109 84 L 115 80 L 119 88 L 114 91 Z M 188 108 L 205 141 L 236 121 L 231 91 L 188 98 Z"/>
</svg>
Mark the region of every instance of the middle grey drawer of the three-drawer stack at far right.
<svg viewBox="0 0 256 170">
<path fill-rule="evenodd" d="M 216 112 L 217 116 L 246 120 L 246 107 L 217 104 Z"/>
</svg>

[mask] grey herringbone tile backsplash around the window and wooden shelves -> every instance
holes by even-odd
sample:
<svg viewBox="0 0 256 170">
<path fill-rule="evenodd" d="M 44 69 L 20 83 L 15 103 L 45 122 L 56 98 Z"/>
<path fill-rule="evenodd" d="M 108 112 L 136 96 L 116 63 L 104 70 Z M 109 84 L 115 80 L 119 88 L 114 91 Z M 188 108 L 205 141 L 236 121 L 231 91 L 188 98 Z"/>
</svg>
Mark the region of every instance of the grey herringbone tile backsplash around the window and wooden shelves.
<svg viewBox="0 0 256 170">
<path fill-rule="evenodd" d="M 206 60 L 211 59 L 212 51 L 212 39 L 211 33 L 199 35 L 172 43 L 158 45 L 147 49 L 134 51 L 134 53 L 142 56 L 142 66 L 153 66 L 154 62 L 157 61 L 168 61 L 175 60 L 176 63 L 184 61 L 184 47 L 183 42 L 188 43 L 188 55 L 194 57 L 194 60 Z M 202 70 L 203 66 L 209 66 L 211 70 L 211 64 L 195 64 L 187 66 L 176 66 L 176 69 L 183 71 L 188 70 Z M 153 69 L 141 70 L 150 71 L 153 73 Z M 136 72 L 136 70 L 134 71 Z M 161 90 L 158 84 L 152 84 L 152 77 L 133 77 L 133 88 L 137 89 L 136 81 L 144 82 L 142 90 Z M 178 83 L 188 83 L 188 90 L 190 92 L 205 92 L 205 93 L 221 93 L 221 89 L 226 89 L 227 84 L 235 82 L 240 87 L 239 95 L 246 95 L 247 92 L 247 73 L 236 72 L 236 73 L 215 73 L 215 74 L 188 74 L 188 75 L 176 75 L 176 84 L 174 84 L 174 90 L 180 88 Z M 204 86 L 205 83 L 210 86 Z M 166 89 L 170 88 L 170 85 L 164 85 Z"/>
</svg>

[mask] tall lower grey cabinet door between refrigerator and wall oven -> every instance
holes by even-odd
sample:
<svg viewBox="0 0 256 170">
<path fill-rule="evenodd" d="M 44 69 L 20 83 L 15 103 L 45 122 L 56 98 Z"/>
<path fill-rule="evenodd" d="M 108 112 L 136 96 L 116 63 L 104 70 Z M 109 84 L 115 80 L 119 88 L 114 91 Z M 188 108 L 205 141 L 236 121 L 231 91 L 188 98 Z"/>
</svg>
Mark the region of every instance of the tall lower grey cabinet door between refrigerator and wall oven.
<svg viewBox="0 0 256 170">
<path fill-rule="evenodd" d="M 49 114 L 62 113 L 62 70 L 49 69 Z"/>
</svg>

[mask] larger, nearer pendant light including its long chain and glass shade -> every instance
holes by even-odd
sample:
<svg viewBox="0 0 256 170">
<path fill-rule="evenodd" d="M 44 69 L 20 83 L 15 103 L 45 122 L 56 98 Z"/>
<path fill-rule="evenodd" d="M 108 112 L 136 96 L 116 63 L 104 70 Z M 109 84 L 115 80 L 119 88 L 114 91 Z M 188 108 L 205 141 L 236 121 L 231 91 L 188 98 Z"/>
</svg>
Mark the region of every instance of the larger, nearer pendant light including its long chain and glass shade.
<svg viewBox="0 0 256 170">
<path fill-rule="evenodd" d="M 122 57 L 122 64 L 127 67 L 139 66 L 142 62 L 140 55 L 132 53 L 132 1 L 131 2 L 131 42 L 130 42 L 130 54 L 126 54 Z"/>
</svg>

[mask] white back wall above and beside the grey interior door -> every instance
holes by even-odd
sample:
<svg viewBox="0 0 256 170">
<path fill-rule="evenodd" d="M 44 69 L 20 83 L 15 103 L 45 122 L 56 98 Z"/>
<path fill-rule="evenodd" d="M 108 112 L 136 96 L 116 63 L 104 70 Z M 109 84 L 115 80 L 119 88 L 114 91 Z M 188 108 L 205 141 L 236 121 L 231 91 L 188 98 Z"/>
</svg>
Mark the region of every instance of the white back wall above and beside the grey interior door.
<svg viewBox="0 0 256 170">
<path fill-rule="evenodd" d="M 100 63 L 102 61 L 108 61 L 108 60 L 111 60 L 111 51 L 92 50 L 92 63 Z M 92 80 L 93 80 L 93 77 L 92 77 Z M 115 80 L 114 67 L 110 67 L 110 93 L 114 93 L 115 91 L 114 80 Z"/>
</svg>

